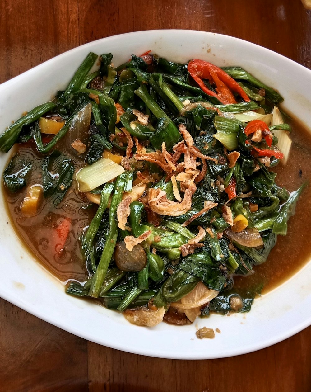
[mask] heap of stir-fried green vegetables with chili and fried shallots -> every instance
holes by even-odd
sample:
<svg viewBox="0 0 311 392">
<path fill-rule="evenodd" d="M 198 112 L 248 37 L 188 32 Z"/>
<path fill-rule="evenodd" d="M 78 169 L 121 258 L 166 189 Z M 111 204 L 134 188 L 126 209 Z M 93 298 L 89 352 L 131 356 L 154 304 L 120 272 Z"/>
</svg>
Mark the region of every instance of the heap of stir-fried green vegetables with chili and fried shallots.
<svg viewBox="0 0 311 392">
<path fill-rule="evenodd" d="M 67 293 L 136 325 L 250 310 L 260 288 L 244 297 L 234 278 L 267 260 L 303 189 L 273 172 L 291 148 L 282 97 L 240 67 L 99 60 L 0 135 L 5 192 L 43 233 L 33 251 L 86 269 Z"/>
</svg>

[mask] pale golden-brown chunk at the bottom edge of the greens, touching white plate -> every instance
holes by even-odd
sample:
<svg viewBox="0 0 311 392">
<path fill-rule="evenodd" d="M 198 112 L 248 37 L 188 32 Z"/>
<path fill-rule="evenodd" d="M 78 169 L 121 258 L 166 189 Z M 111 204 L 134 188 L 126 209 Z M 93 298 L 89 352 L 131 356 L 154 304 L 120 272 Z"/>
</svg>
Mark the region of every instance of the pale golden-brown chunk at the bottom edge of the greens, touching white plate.
<svg viewBox="0 0 311 392">
<path fill-rule="evenodd" d="M 164 306 L 157 310 L 151 310 L 146 306 L 142 306 L 139 309 L 127 309 L 123 314 L 127 321 L 132 324 L 141 327 L 154 327 L 163 320 L 165 309 Z"/>
</svg>

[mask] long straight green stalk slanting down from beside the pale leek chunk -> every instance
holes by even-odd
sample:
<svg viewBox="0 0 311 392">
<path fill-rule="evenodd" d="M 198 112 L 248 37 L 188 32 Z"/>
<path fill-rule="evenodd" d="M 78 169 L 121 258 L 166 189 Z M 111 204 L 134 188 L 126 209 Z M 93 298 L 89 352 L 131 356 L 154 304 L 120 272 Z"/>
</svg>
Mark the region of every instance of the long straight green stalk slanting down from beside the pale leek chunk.
<svg viewBox="0 0 311 392">
<path fill-rule="evenodd" d="M 112 254 L 116 246 L 116 241 L 118 239 L 118 227 L 116 224 L 115 214 L 117 211 L 117 207 L 122 199 L 126 176 L 126 173 L 122 173 L 120 176 L 118 176 L 114 185 L 114 194 L 112 196 L 109 210 L 109 234 L 105 242 L 105 246 L 101 254 L 98 267 L 92 278 L 89 290 L 89 296 L 91 297 L 98 297 L 101 285 L 103 284 L 103 281 L 106 277 L 108 265 L 110 264 Z"/>
</svg>

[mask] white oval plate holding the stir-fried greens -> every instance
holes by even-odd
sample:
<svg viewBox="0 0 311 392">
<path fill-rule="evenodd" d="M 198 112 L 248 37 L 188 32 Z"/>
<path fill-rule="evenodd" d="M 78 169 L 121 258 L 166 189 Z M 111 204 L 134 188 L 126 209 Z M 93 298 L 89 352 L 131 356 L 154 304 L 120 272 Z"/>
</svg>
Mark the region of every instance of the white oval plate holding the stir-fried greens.
<svg viewBox="0 0 311 392">
<path fill-rule="evenodd" d="M 38 65 L 0 85 L 0 132 L 24 111 L 64 89 L 85 56 L 111 52 L 114 64 L 151 49 L 170 60 L 200 58 L 219 66 L 240 65 L 275 87 L 290 109 L 311 128 L 311 71 L 280 54 L 237 38 L 187 30 L 128 33 L 90 42 Z M 8 156 L 0 154 L 2 173 Z M 3 195 L 0 194 L 3 205 Z M 57 279 L 33 260 L 0 211 L 0 296 L 64 330 L 96 343 L 163 358 L 210 359 L 234 356 L 273 345 L 311 324 L 311 263 L 277 289 L 256 299 L 250 313 L 213 315 L 183 327 L 161 323 L 137 327 L 122 314 L 68 296 Z M 286 255 L 284 255 L 286 257 Z M 219 328 L 214 339 L 199 340 L 197 328 Z"/>
</svg>

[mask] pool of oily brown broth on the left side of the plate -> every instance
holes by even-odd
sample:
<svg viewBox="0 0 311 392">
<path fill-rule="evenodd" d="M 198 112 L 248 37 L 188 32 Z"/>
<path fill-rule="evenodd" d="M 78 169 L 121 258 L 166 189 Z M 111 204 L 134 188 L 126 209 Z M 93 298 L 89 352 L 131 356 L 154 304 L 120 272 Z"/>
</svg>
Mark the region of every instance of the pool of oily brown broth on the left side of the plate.
<svg viewBox="0 0 311 392">
<path fill-rule="evenodd" d="M 25 156 L 34 162 L 29 185 L 42 183 L 42 155 L 36 151 L 34 143 L 21 144 L 18 146 L 18 152 L 20 156 Z M 75 170 L 83 165 L 81 158 L 74 156 L 71 158 L 74 160 Z M 35 258 L 63 282 L 68 279 L 85 281 L 88 274 L 80 250 L 79 237 L 83 229 L 89 225 L 96 210 L 93 206 L 85 208 L 87 203 L 76 191 L 74 181 L 59 205 L 55 207 L 49 198 L 43 199 L 40 210 L 35 216 L 23 216 L 20 211 L 26 189 L 16 193 L 7 191 L 4 186 L 3 189 L 11 223 L 22 243 L 27 244 Z M 66 219 L 71 220 L 71 229 L 65 247 L 62 249 L 56 236 L 56 227 Z"/>
</svg>

